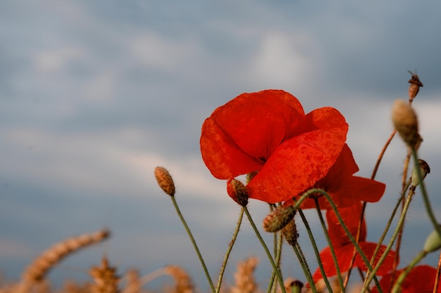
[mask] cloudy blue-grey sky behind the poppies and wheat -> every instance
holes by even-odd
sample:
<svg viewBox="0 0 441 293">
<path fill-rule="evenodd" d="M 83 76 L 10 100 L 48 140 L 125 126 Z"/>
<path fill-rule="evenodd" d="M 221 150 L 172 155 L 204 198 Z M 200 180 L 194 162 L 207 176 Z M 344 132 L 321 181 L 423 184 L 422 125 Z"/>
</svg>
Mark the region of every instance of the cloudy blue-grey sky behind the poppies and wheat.
<svg viewBox="0 0 441 293">
<path fill-rule="evenodd" d="M 414 103 L 424 138 L 420 153 L 432 169 L 426 181 L 439 210 L 440 6 L 1 1 L 1 272 L 17 280 L 54 242 L 108 227 L 111 240 L 70 256 L 49 278 L 84 280 L 106 254 L 120 273 L 182 266 L 204 288 L 196 254 L 156 185 L 154 167 L 173 174 L 182 213 L 216 279 L 239 208 L 201 160 L 201 124 L 240 93 L 263 89 L 289 91 L 305 112 L 340 110 L 359 175 L 370 176 L 392 131 L 391 105 L 407 97 L 407 70 L 418 70 L 424 84 Z M 369 240 L 378 238 L 397 198 L 405 154 L 403 143 L 392 141 L 377 176 L 387 183 L 385 196 L 368 209 Z M 249 207 L 259 224 L 266 205 Z M 402 263 L 432 230 L 420 197 L 408 219 Z M 314 214 L 311 221 L 318 228 Z M 264 285 L 268 261 L 251 232 L 244 221 L 227 278 L 232 282 L 237 261 L 254 255 Z M 323 235 L 317 238 L 324 245 Z M 286 274 L 303 280 L 292 252 L 285 252 Z M 427 262 L 435 264 L 437 256 Z"/>
</svg>

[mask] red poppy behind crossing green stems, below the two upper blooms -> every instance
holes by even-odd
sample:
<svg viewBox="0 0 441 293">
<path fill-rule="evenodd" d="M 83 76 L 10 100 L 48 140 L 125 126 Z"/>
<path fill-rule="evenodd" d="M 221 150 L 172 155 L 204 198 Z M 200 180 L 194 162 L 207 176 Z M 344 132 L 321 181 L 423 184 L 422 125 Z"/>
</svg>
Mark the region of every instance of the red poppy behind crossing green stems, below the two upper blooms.
<svg viewBox="0 0 441 293">
<path fill-rule="evenodd" d="M 358 202 L 351 207 L 340 208 L 338 209 L 340 216 L 342 217 L 344 224 L 347 226 L 349 232 L 354 238 L 356 237 L 356 230 L 358 228 L 358 223 L 361 215 L 361 202 Z M 326 220 L 328 221 L 328 233 L 330 236 L 331 243 L 333 244 L 335 255 L 337 256 L 338 266 L 340 268 L 340 272 L 343 273 L 349 270 L 349 265 L 352 259 L 352 254 L 354 253 L 354 245 L 349 240 L 349 237 L 344 233 L 340 222 L 335 216 L 333 210 L 326 211 Z M 375 247 L 377 243 L 375 242 L 366 242 L 366 223 L 363 220 L 363 225 L 361 226 L 361 234 L 359 239 L 359 246 L 361 250 L 366 255 L 367 259 L 370 261 L 373 252 L 375 251 Z M 375 256 L 374 264 L 380 259 L 380 256 L 385 251 L 386 246 L 382 245 L 378 254 Z M 337 275 L 337 271 L 335 269 L 333 256 L 330 252 L 330 248 L 326 247 L 320 252 L 321 262 L 323 263 L 323 268 L 325 270 L 325 275 L 330 278 L 334 275 Z M 377 275 L 385 275 L 390 272 L 392 269 L 392 265 L 395 258 L 395 252 L 388 252 L 385 261 L 380 266 L 380 269 L 377 271 Z M 363 259 L 359 254 L 356 254 L 355 261 L 352 267 L 359 267 L 361 271 L 367 271 L 368 268 L 364 263 Z M 314 282 L 317 282 L 322 277 L 320 269 L 317 269 L 313 274 Z"/>
</svg>

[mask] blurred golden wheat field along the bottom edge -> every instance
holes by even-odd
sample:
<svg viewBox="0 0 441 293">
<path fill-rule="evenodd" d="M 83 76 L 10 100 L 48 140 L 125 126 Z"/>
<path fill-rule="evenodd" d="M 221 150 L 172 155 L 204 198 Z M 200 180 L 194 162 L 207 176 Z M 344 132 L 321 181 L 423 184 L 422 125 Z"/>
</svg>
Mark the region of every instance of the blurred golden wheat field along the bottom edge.
<svg viewBox="0 0 441 293">
<path fill-rule="evenodd" d="M 64 280 L 63 285 L 54 288 L 46 278 L 48 273 L 54 269 L 58 263 L 67 256 L 85 249 L 91 245 L 102 242 L 111 233 L 109 230 L 99 230 L 94 233 L 82 234 L 77 237 L 70 237 L 61 242 L 57 242 L 42 254 L 39 254 L 32 263 L 25 268 L 19 282 L 8 282 L 3 280 L 0 275 L 0 293 L 196 293 L 201 292 L 194 285 L 192 277 L 184 268 L 180 266 L 165 266 L 147 275 L 139 275 L 137 268 L 130 268 L 125 272 L 119 271 L 116 266 L 111 265 L 107 256 L 101 256 L 101 263 L 88 269 L 89 280 L 85 282 L 75 282 Z M 259 287 L 254 278 L 254 271 L 259 264 L 259 259 L 249 257 L 237 263 L 236 271 L 233 275 L 234 284 L 221 286 L 221 293 L 263 293 L 266 288 Z M 168 275 L 170 281 L 164 283 L 161 289 L 148 289 L 149 282 L 163 275 Z M 287 278 L 285 289 L 292 292 L 294 285 L 303 287 L 302 282 Z M 325 291 L 325 286 L 316 285 L 318 292 Z M 340 292 L 339 285 L 335 283 L 334 292 Z M 280 287 L 275 287 L 275 291 L 281 292 Z M 309 292 L 305 287 L 302 292 Z M 348 291 L 347 291 L 348 292 Z M 357 292 L 356 288 L 349 292 Z"/>
</svg>

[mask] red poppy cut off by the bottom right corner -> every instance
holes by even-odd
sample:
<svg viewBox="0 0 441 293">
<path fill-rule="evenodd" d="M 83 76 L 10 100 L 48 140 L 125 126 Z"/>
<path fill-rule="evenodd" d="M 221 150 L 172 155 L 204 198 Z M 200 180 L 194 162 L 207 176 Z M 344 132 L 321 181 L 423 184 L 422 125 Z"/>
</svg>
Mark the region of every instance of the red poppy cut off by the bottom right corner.
<svg viewBox="0 0 441 293">
<path fill-rule="evenodd" d="M 395 273 L 395 281 L 397 280 L 400 273 L 403 270 L 397 271 Z M 393 284 L 390 284 L 390 280 L 392 277 L 392 273 L 388 273 L 383 276 L 380 280 L 380 286 L 383 289 L 383 292 L 389 292 L 389 290 L 393 287 Z M 431 266 L 416 266 L 412 269 L 409 275 L 406 276 L 406 279 L 402 283 L 402 293 L 432 293 L 433 286 L 435 285 L 436 278 L 436 269 Z M 377 287 L 373 287 L 371 289 L 372 293 L 377 293 Z M 441 292 L 441 282 L 438 283 L 438 292 Z"/>
</svg>

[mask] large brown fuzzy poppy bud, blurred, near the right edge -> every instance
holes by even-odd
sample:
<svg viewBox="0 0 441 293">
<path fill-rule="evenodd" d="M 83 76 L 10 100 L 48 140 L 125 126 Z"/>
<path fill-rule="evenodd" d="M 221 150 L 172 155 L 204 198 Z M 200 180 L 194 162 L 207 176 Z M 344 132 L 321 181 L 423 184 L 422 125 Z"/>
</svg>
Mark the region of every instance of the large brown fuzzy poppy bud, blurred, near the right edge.
<svg viewBox="0 0 441 293">
<path fill-rule="evenodd" d="M 411 148 L 418 143 L 418 118 L 409 103 L 404 100 L 395 100 L 392 106 L 392 122 L 403 141 Z"/>
</svg>

